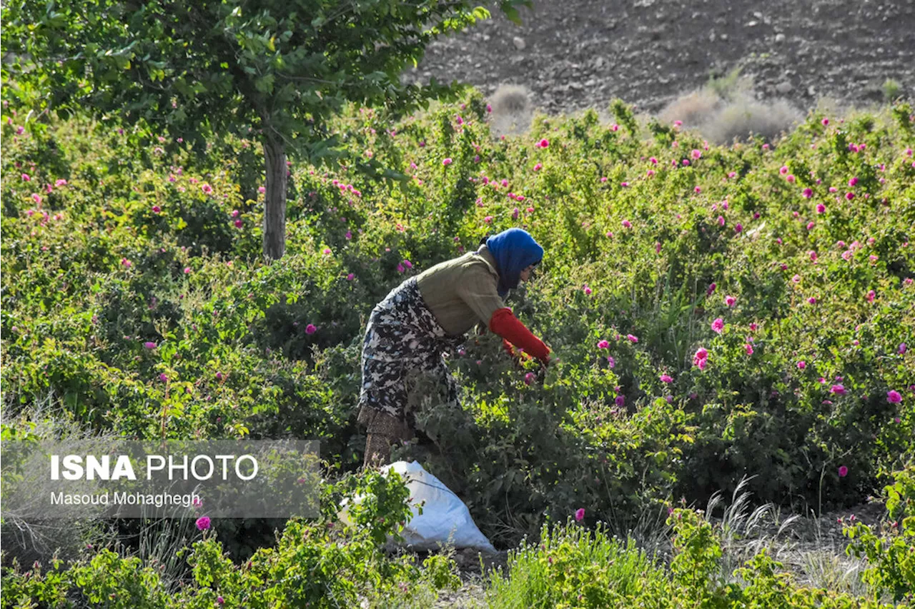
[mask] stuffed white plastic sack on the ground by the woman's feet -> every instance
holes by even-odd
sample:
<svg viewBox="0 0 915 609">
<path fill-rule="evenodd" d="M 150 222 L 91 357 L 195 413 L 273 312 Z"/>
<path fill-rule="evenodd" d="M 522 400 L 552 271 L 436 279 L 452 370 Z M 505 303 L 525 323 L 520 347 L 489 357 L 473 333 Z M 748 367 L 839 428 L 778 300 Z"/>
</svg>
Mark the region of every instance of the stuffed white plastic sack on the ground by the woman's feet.
<svg viewBox="0 0 915 609">
<path fill-rule="evenodd" d="M 464 502 L 436 476 L 429 474 L 422 465 L 414 461 L 397 461 L 384 465 L 382 472 L 394 471 L 405 478 L 406 487 L 414 503 L 425 500 L 423 514 L 413 508 L 413 518 L 401 531 L 404 545 L 414 550 L 437 550 L 439 546 L 453 545 L 456 549 L 472 548 L 474 550 L 495 552 L 496 549 L 486 539 Z M 359 502 L 361 497 L 354 497 Z M 340 520 L 350 523 L 348 510 L 344 507 L 338 514 Z M 388 540 L 389 544 L 391 540 Z"/>
</svg>

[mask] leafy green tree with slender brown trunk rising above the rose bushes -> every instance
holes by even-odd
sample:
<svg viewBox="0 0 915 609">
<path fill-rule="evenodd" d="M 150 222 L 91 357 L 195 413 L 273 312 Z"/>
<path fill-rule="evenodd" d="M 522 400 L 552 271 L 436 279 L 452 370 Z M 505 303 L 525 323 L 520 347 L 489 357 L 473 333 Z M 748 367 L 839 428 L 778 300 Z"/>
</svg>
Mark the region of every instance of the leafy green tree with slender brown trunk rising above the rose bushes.
<svg viewBox="0 0 915 609">
<path fill-rule="evenodd" d="M 517 21 L 531 0 L 499 5 Z M 264 253 L 278 257 L 267 237 L 283 237 L 269 223 L 285 214 L 286 152 L 339 158 L 327 121 L 347 102 L 396 115 L 455 93 L 401 72 L 434 38 L 489 16 L 466 0 L 14 0 L 0 5 L 0 79 L 38 110 L 92 108 L 197 142 L 258 134 Z"/>
</svg>

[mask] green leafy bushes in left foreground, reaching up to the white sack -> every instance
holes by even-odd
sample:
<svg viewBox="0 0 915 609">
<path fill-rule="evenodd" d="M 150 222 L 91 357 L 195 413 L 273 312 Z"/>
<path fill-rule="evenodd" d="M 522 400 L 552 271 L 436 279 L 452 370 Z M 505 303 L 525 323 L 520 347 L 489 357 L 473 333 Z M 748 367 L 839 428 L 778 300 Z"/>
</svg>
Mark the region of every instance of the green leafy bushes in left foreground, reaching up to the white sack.
<svg viewBox="0 0 915 609">
<path fill-rule="evenodd" d="M 396 535 L 411 515 L 407 490 L 396 475 L 372 472 L 350 476 L 323 488 L 322 512 L 313 522 L 290 520 L 273 548 L 262 548 L 241 563 L 231 560 L 210 529 L 203 539 L 179 550 L 188 565 L 187 580 L 169 582 L 139 558 L 108 549 L 87 550 L 84 560 L 52 561 L 45 571 L 36 563 L 22 572 L 0 568 L 0 604 L 5 607 L 148 607 L 214 606 L 423 607 L 436 590 L 455 589 L 454 562 L 438 555 L 417 566 L 406 557 L 388 559 L 387 535 Z M 344 497 L 364 497 L 350 511 L 352 526 L 336 518 Z M 215 527 L 220 522 L 214 523 Z M 394 596 L 398 599 L 391 604 Z"/>
</svg>

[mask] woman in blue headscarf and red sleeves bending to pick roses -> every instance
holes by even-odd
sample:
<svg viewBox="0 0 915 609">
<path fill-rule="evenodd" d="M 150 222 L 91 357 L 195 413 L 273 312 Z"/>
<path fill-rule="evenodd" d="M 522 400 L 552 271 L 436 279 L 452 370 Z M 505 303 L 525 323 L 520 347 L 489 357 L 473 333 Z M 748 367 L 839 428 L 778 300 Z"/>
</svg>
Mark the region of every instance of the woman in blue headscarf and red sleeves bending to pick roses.
<svg viewBox="0 0 915 609">
<path fill-rule="evenodd" d="M 407 279 L 372 309 L 362 342 L 359 398 L 359 422 L 368 428 L 364 465 L 387 463 L 391 444 L 412 436 L 405 412 L 408 373 L 436 373 L 447 384 L 448 401 L 458 401 L 442 354 L 458 347 L 477 323 L 502 337 L 509 353 L 514 345 L 544 366 L 549 363 L 550 349 L 503 301 L 528 281 L 543 257 L 544 249 L 527 231 L 504 230 L 480 241 L 477 251 Z"/>
</svg>

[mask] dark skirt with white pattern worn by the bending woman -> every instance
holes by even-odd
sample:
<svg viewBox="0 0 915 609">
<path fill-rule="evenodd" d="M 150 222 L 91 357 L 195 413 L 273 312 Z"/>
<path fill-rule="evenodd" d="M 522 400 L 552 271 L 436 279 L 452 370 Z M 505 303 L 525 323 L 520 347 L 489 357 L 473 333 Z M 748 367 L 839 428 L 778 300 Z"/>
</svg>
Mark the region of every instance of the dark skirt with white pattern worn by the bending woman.
<svg viewBox="0 0 915 609">
<path fill-rule="evenodd" d="M 359 396 L 359 421 L 376 432 L 376 418 L 406 424 L 415 400 L 418 379 L 434 379 L 444 384 L 447 401 L 457 404 L 458 385 L 448 372 L 444 352 L 457 348 L 463 336 L 452 337 L 439 326 L 425 305 L 416 279 L 411 277 L 395 287 L 371 310 L 362 341 L 362 388 Z M 378 417 L 379 413 L 389 416 Z M 402 428 L 388 433 L 409 436 Z M 404 438 L 406 439 L 406 438 Z"/>
</svg>

